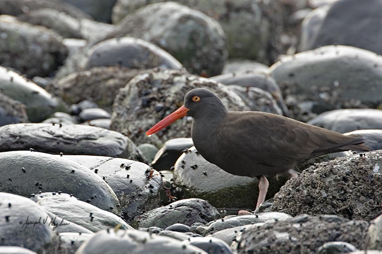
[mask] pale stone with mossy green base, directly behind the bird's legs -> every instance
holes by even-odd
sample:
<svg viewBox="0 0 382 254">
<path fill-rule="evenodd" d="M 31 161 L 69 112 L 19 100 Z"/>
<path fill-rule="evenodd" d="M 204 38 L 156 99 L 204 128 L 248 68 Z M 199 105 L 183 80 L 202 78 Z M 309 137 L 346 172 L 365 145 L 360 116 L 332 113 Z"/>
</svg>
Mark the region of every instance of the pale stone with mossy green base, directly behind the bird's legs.
<svg viewBox="0 0 382 254">
<path fill-rule="evenodd" d="M 267 197 L 272 197 L 286 178 L 270 178 L 269 181 Z M 174 169 L 174 183 L 182 187 L 183 198 L 202 198 L 215 207 L 255 208 L 259 193 L 257 178 L 231 175 L 206 161 L 195 147 L 179 157 Z"/>
</svg>

